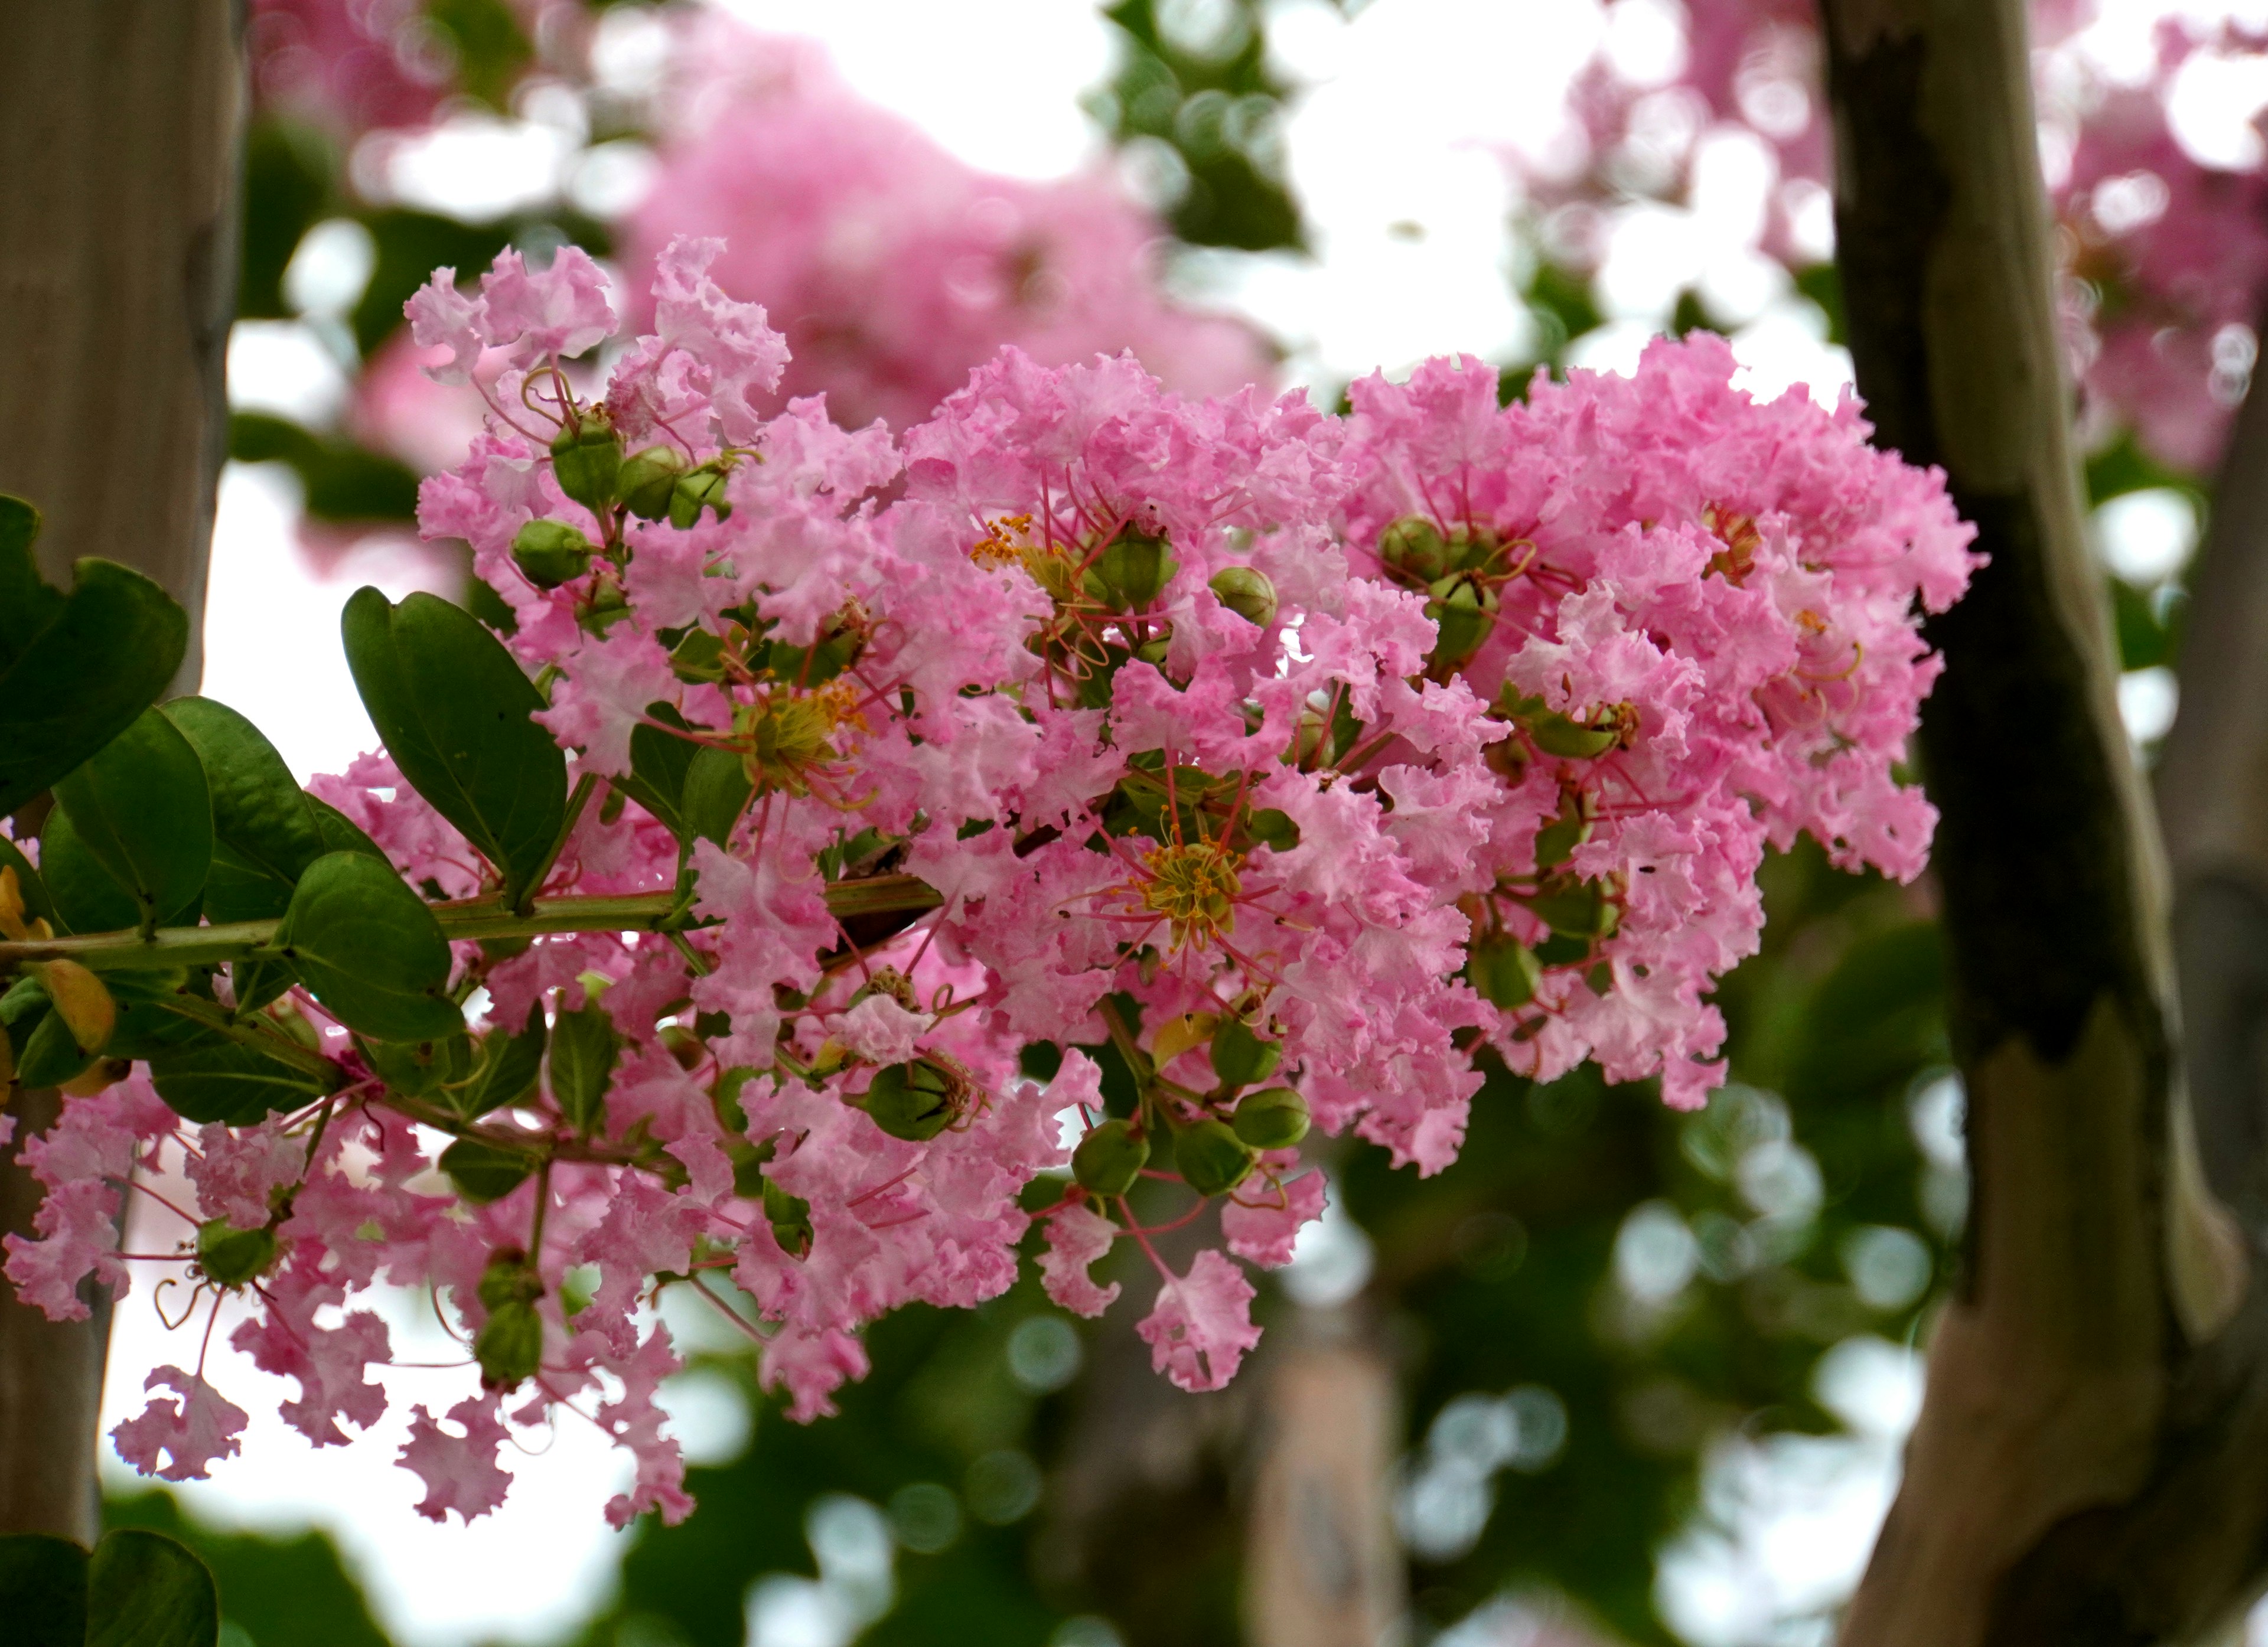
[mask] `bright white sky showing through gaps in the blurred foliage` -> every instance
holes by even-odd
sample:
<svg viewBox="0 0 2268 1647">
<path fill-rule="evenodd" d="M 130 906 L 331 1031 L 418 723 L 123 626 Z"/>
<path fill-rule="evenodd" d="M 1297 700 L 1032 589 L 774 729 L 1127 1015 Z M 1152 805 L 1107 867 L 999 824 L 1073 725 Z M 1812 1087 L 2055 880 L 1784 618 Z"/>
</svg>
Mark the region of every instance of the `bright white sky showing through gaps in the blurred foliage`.
<svg viewBox="0 0 2268 1647">
<path fill-rule="evenodd" d="M 769 29 L 821 36 L 844 75 L 975 166 L 1048 177 L 1098 163 L 1102 145 L 1080 93 L 1111 61 L 1111 32 L 1077 0 L 723 0 Z M 1209 0 L 1182 0 L 1202 25 Z M 1628 0 L 1613 50 L 1667 75 L 1676 48 L 1669 0 Z M 2268 0 L 2252 0 L 2268 11 Z M 2157 0 L 2109 0 L 2102 57 L 2134 64 Z M 1601 39 L 1592 0 L 1372 0 L 1349 23 L 1322 0 L 1279 0 L 1270 48 L 1309 93 L 1288 123 L 1295 188 L 1315 231 L 1318 256 L 1198 256 L 1186 281 L 1241 309 L 1290 349 L 1295 381 L 1334 390 L 1374 365 L 1406 370 L 1427 354 L 1506 356 L 1526 324 L 1510 297 L 1513 204 L 1488 147 L 1538 147 L 1549 138 L 1567 77 Z M 608 23 L 608 70 L 626 84 L 651 73 L 653 36 L 635 18 Z M 2248 116 L 2268 100 L 2268 77 L 2223 75 L 2198 86 L 2184 138 L 2200 152 L 2245 152 L 2259 143 Z M 395 154 L 386 184 L 404 200 L 483 216 L 538 200 L 567 181 L 578 195 L 635 191 L 637 168 L 619 157 L 569 172 L 578 132 L 565 109 L 538 107 L 524 123 L 463 123 Z M 1585 365 L 1626 368 L 1667 320 L 1683 286 L 1699 284 L 1712 309 L 1737 322 L 1735 349 L 1751 386 L 1776 392 L 1805 383 L 1833 399 L 1848 358 L 1819 333 L 1817 311 L 1787 297 L 1785 274 L 1749 245 L 1769 177 L 1755 154 L 1724 145 L 1706 161 L 1699 209 L 1642 211 L 1617 231 L 1601 277 L 1613 324 L 1585 347 Z M 1413 231 L 1415 227 L 1415 231 Z M 342 261 L 340 261 L 342 259 Z M 358 279 L 352 236 L 299 270 L 313 309 L 347 306 Z M 342 274 L 345 270 L 345 274 Z M 338 290 L 327 290 L 338 288 Z M 322 420 L 345 392 L 318 331 L 297 322 L 240 327 L 229 354 L 240 406 Z M 2170 495 L 2168 495 L 2170 497 Z M 2182 506 L 2186 508 L 2186 506 Z M 2180 522 L 2130 510 L 2139 549 L 2170 569 L 2186 554 Z M 204 690 L 252 715 L 302 776 L 336 771 L 372 733 L 338 651 L 338 608 L 361 583 L 392 597 L 449 588 L 454 574 L 408 540 L 365 540 L 315 574 L 295 547 L 297 497 L 274 470 L 236 465 L 222 483 L 206 613 Z M 2127 529 L 2109 522 L 2116 558 Z M 2168 535 L 2170 533 L 2170 535 Z M 2193 522 L 2189 522 L 2193 538 Z M 2166 542 L 2180 542 L 2168 551 Z M 2164 674 L 2164 672 L 2159 672 Z M 2146 687 L 2146 690 L 2143 690 Z M 2146 715 L 2170 717 L 2170 681 L 2141 683 Z M 2150 708 L 2155 706 L 2155 708 Z M 170 1236 L 163 1236 L 170 1241 Z M 141 1375 L 195 1352 L 150 1311 L 150 1279 L 118 1311 L 104 1425 L 141 1407 Z M 406 1359 L 458 1359 L 420 1300 L 390 1307 Z M 222 1343 L 215 1382 L 254 1416 L 245 1456 L 181 1497 L 222 1524 L 331 1529 L 361 1572 L 388 1629 L 408 1647 L 460 1647 L 481 1638 L 547 1640 L 594 1606 L 612 1583 L 619 1540 L 599 1506 L 621 1468 L 596 1434 L 567 1420 L 542 1456 L 506 1456 L 519 1486 L 506 1509 L 463 1531 L 411 1513 L 413 1477 L 392 1450 L 415 1400 L 454 1400 L 449 1372 L 401 1370 L 388 1384 L 397 1411 L 352 1447 L 313 1450 L 274 1416 L 288 1391 Z M 1665 1570 L 1665 1602 L 1703 1647 L 1762 1640 L 1783 1606 L 1814 1599 L 1821 1574 L 1855 1577 L 1894 1481 L 1898 1438 L 1916 1370 L 1880 1345 L 1848 1359 L 1837 1386 L 1857 1438 L 1819 1443 L 1801 1456 L 1735 1450 L 1712 1472 L 1710 1502 L 1726 1531 L 1692 1536 Z M 701 1452 L 730 1452 L 746 1411 L 721 1384 L 680 1397 L 680 1427 Z M 1783 1456 L 1785 1454 L 1785 1456 Z M 111 1461 L 118 1486 L 134 1477 Z M 542 1583 L 499 1586 L 497 1572 L 542 1572 Z M 782 1647 L 785 1636 L 755 1647 Z M 826 1647 L 826 1642 L 819 1642 Z"/>
</svg>

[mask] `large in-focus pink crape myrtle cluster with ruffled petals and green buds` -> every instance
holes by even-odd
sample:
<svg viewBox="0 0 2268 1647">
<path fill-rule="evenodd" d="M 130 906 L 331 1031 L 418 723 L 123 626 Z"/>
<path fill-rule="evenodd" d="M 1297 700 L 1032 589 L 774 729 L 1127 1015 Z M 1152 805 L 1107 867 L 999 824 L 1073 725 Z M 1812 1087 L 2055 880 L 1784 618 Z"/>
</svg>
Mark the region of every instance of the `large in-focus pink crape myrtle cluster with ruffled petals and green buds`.
<svg viewBox="0 0 2268 1647">
<path fill-rule="evenodd" d="M 603 381 L 560 365 L 615 331 L 581 252 L 411 302 L 485 408 L 422 524 L 510 608 L 585 799 L 547 907 L 669 919 L 460 941 L 469 1075 L 293 989 L 265 1021 L 329 1098 L 193 1127 L 136 1066 L 23 1148 L 50 1191 L 7 1243 L 23 1298 L 125 1286 L 138 1189 L 313 1445 L 386 1411 L 361 1295 L 431 1289 L 467 1357 L 399 1454 L 422 1513 L 492 1511 L 501 1445 L 565 1407 L 635 1459 L 617 1524 L 685 1515 L 662 1289 L 816 1418 L 885 1311 L 996 1298 L 1030 1239 L 1100 1314 L 1127 1243 L 1157 1370 L 1220 1388 L 1259 1338 L 1243 1266 L 1322 1216 L 1311 1123 L 1436 1173 L 1483 1041 L 1694 1103 L 1765 844 L 1919 871 L 1892 762 L 1935 672 L 1919 608 L 1971 560 L 1855 408 L 1758 406 L 1708 340 L 1508 411 L 1429 363 L 1352 417 L 1005 349 L 894 438 L 767 415 L 787 349 L 721 265 L 671 243 Z M 313 789 L 429 896 L 499 887 L 392 758 Z M 465 1098 L 542 1032 L 542 1075 Z M 1152 1236 L 1216 1209 L 1168 1268 Z M 202 1352 L 150 1386 L 113 1431 L 136 1468 L 236 1450 Z"/>
</svg>

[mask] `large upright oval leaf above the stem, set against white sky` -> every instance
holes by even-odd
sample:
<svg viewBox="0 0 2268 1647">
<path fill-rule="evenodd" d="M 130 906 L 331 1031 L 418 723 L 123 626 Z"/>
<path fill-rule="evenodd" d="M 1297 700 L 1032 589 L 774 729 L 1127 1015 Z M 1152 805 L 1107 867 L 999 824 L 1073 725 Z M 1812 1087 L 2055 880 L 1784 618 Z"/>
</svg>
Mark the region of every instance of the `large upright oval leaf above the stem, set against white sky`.
<svg viewBox="0 0 2268 1647">
<path fill-rule="evenodd" d="M 356 590 L 340 628 L 386 753 L 517 903 L 567 817 L 567 755 L 528 719 L 542 694 L 472 613 L 433 594 L 392 606 Z"/>
</svg>

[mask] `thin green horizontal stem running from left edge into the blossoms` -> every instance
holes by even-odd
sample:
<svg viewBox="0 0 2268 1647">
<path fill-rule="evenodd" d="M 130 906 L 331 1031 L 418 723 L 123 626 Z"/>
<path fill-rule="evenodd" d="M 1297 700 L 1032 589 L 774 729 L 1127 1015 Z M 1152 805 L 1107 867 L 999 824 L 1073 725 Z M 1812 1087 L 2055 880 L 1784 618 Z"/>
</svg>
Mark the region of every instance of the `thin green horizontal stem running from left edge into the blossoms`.
<svg viewBox="0 0 2268 1647">
<path fill-rule="evenodd" d="M 837 880 L 826 889 L 835 917 L 907 914 L 943 903 L 934 887 L 914 876 L 869 876 Z M 449 939 L 540 937 L 544 932 L 658 932 L 676 907 L 671 892 L 631 892 L 603 898 L 538 898 L 517 914 L 501 898 L 435 903 L 433 914 Z M 141 932 L 82 932 L 32 941 L 0 941 L 0 973 L 25 962 L 73 960 L 88 971 L 152 971 L 166 966 L 215 966 L 238 960 L 279 960 L 279 921 L 227 921 L 218 926 L 163 926 Z"/>
</svg>

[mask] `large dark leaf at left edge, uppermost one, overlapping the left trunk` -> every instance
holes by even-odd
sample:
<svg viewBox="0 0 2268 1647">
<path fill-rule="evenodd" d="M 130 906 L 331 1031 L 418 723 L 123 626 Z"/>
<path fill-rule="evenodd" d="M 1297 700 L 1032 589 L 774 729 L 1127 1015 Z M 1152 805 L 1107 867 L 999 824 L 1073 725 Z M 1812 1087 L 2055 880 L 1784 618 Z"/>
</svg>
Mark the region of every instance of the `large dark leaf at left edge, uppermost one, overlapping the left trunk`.
<svg viewBox="0 0 2268 1647">
<path fill-rule="evenodd" d="M 0 499 L 0 812 L 118 737 L 181 667 L 188 613 L 141 572 L 79 560 L 70 594 L 39 576 L 39 510 Z"/>
</svg>

